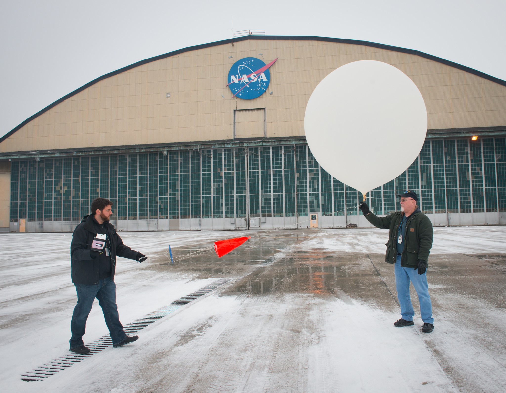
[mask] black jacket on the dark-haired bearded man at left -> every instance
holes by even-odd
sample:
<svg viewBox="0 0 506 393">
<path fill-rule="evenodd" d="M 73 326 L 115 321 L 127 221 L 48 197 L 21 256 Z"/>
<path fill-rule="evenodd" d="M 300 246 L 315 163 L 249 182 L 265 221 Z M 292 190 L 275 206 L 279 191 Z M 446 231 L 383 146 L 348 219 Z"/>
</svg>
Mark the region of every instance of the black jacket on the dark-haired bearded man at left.
<svg viewBox="0 0 506 393">
<path fill-rule="evenodd" d="M 104 223 L 104 228 L 107 238 L 111 242 L 111 278 L 114 279 L 116 256 L 136 259 L 138 252 L 123 244 L 112 224 Z M 98 284 L 100 261 L 99 258 L 92 258 L 90 255 L 93 238 L 96 235 L 97 230 L 93 222 L 93 215 L 85 215 L 81 223 L 75 227 L 70 244 L 72 282 L 74 284 Z"/>
</svg>

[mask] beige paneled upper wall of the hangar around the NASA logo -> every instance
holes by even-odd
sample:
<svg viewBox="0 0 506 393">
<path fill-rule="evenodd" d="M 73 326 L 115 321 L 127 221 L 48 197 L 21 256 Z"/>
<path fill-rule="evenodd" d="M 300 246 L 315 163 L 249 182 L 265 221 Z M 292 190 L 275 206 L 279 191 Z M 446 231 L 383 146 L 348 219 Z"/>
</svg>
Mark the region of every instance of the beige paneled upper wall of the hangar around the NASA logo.
<svg viewBox="0 0 506 393">
<path fill-rule="evenodd" d="M 318 82 L 366 59 L 390 63 L 414 81 L 429 130 L 506 126 L 506 81 L 422 52 L 313 36 L 245 36 L 231 43 L 185 48 L 102 75 L 11 130 L 0 139 L 0 153 L 231 140 L 235 110 L 258 108 L 265 108 L 267 138 L 302 137 Z M 244 57 L 278 59 L 270 68 L 272 95 L 233 97 L 227 76 Z"/>
</svg>

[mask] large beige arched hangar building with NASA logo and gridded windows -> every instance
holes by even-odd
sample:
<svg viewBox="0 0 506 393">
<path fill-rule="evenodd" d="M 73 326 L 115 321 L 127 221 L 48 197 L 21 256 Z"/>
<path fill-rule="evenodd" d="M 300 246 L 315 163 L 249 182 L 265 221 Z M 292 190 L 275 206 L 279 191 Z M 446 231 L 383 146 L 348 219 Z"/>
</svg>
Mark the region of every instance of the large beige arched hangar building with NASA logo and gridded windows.
<svg viewBox="0 0 506 393">
<path fill-rule="evenodd" d="M 98 196 L 120 231 L 367 227 L 304 135 L 316 85 L 357 60 L 403 71 L 428 110 L 417 159 L 368 194 L 374 212 L 409 189 L 436 226 L 506 224 L 506 81 L 372 42 L 244 36 L 103 75 L 7 133 L 0 230 L 72 231 Z"/>
</svg>

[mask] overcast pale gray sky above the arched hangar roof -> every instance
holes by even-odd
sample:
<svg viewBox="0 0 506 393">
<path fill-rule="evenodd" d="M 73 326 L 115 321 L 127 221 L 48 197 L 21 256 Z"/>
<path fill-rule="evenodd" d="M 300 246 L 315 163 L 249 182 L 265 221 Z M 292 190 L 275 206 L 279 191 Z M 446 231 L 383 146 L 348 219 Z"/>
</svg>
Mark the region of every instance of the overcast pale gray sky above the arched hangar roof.
<svg viewBox="0 0 506 393">
<path fill-rule="evenodd" d="M 17 0 L 0 8 L 0 136 L 79 86 L 234 30 L 409 48 L 506 80 L 504 0 Z"/>
</svg>

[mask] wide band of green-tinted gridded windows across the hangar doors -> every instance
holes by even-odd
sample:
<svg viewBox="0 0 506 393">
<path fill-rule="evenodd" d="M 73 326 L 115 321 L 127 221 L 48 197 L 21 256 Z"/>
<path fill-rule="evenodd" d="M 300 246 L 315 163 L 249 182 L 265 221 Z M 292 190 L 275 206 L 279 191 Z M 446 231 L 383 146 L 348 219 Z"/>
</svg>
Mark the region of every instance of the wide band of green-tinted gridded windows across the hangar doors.
<svg viewBox="0 0 506 393">
<path fill-rule="evenodd" d="M 10 220 L 78 221 L 97 196 L 113 201 L 119 220 L 246 217 L 248 200 L 251 217 L 360 214 L 361 195 L 332 178 L 306 145 L 246 150 L 13 161 Z M 367 201 L 386 214 L 398 208 L 396 191 L 409 189 L 426 212 L 506 211 L 505 150 L 504 138 L 426 141 L 407 171 Z"/>
</svg>

